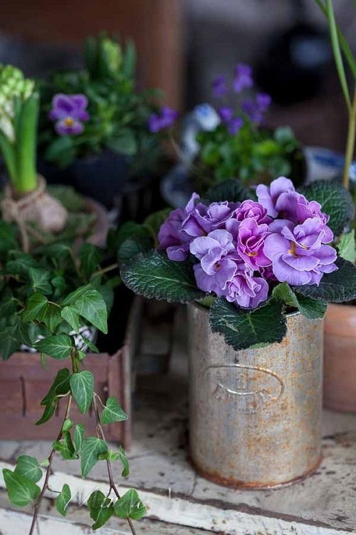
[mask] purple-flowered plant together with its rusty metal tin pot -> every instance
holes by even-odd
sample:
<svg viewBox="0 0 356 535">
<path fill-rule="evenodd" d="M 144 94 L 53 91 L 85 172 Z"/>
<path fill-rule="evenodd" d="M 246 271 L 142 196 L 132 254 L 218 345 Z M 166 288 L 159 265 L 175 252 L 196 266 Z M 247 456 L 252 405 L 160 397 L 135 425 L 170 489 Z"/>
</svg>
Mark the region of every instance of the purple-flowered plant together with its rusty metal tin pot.
<svg viewBox="0 0 356 535">
<path fill-rule="evenodd" d="M 125 285 L 189 303 L 190 452 L 205 477 L 272 486 L 318 466 L 323 316 L 356 297 L 340 240 L 353 213 L 337 183 L 227 180 L 120 230 Z"/>
</svg>

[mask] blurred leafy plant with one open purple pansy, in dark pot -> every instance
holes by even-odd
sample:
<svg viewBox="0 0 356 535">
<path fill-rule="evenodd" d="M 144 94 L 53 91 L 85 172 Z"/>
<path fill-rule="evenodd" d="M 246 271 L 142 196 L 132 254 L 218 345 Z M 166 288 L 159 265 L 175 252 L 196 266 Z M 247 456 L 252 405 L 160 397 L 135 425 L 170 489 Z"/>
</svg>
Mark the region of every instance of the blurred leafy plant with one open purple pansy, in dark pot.
<svg viewBox="0 0 356 535">
<path fill-rule="evenodd" d="M 108 208 L 127 180 L 155 173 L 162 149 L 147 128 L 155 91 L 138 91 L 136 52 L 105 34 L 89 38 L 85 68 L 41 81 L 41 165 Z"/>
</svg>

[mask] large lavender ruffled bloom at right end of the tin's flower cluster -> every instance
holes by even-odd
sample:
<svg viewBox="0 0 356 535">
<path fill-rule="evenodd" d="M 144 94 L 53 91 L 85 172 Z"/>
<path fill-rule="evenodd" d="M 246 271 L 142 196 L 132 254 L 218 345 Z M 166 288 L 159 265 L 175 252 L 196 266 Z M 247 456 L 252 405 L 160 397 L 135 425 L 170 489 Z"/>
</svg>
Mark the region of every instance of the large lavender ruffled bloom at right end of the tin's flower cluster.
<svg viewBox="0 0 356 535">
<path fill-rule="evenodd" d="M 318 285 L 324 273 L 337 270 L 335 249 L 324 245 L 328 239 L 324 226 L 319 218 L 308 218 L 296 226 L 285 221 L 280 233 L 267 236 L 263 253 L 272 260 L 277 280 L 297 286 Z"/>
</svg>

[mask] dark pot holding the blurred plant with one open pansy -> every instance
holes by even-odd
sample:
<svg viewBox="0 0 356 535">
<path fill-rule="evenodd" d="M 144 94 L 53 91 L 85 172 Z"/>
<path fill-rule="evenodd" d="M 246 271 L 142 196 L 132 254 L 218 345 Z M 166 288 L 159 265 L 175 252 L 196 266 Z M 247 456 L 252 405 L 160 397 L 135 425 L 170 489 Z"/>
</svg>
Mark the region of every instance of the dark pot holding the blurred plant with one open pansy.
<svg viewBox="0 0 356 535">
<path fill-rule="evenodd" d="M 127 158 L 111 151 L 80 158 L 66 169 L 39 158 L 38 170 L 48 183 L 73 185 L 79 193 L 109 209 L 129 178 Z"/>
</svg>

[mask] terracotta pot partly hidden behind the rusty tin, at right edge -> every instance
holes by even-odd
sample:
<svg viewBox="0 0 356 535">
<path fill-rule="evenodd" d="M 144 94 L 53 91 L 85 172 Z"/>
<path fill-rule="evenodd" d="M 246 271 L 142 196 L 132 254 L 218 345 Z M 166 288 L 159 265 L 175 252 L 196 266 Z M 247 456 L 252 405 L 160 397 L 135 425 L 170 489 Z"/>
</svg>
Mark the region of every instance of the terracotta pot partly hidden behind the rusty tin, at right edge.
<svg viewBox="0 0 356 535">
<path fill-rule="evenodd" d="M 324 370 L 325 407 L 356 412 L 356 306 L 329 305 Z"/>
</svg>

